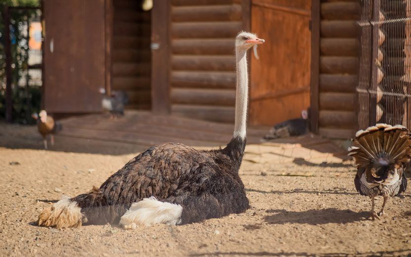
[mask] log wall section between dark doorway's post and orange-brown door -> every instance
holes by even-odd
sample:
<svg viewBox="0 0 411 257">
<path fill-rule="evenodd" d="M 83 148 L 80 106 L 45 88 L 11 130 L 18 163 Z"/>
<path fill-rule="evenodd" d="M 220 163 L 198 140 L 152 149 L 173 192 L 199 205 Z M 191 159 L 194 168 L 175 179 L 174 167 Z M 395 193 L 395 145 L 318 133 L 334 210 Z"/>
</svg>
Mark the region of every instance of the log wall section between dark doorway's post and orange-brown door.
<svg viewBox="0 0 411 257">
<path fill-rule="evenodd" d="M 233 123 L 241 0 L 171 0 L 170 112 Z"/>
</svg>

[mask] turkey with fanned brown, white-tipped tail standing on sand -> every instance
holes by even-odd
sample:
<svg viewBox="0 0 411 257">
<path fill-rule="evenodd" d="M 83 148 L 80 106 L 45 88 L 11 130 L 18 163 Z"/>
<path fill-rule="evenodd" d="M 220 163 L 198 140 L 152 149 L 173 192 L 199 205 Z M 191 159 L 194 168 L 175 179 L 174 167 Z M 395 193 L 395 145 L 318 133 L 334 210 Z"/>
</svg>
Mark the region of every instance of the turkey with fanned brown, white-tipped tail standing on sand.
<svg viewBox="0 0 411 257">
<path fill-rule="evenodd" d="M 411 139 L 404 126 L 377 124 L 356 133 L 353 146 L 348 155 L 355 160 L 358 168 L 354 179 L 355 187 L 361 195 L 371 198 L 370 217 L 378 218 L 374 197 L 382 196 L 379 215 L 389 196 L 396 196 L 407 188 L 404 167 L 411 160 Z"/>
</svg>

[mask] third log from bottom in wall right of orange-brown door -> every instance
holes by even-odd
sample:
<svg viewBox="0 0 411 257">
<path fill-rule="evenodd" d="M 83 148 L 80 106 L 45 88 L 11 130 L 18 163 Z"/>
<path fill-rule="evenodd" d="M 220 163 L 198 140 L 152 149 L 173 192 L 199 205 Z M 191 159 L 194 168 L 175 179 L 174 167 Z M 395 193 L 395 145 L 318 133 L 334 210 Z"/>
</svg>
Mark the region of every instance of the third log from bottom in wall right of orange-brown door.
<svg viewBox="0 0 411 257">
<path fill-rule="evenodd" d="M 356 93 L 320 93 L 320 110 L 356 111 Z"/>
</svg>

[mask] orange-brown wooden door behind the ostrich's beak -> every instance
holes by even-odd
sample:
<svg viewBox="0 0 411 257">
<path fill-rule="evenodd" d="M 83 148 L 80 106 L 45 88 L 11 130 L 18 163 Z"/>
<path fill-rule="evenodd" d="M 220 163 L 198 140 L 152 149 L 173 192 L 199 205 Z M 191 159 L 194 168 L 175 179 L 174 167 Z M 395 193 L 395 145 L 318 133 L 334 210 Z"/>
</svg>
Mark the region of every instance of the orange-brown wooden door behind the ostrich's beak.
<svg viewBox="0 0 411 257">
<path fill-rule="evenodd" d="M 310 106 L 311 0 L 252 0 L 251 31 L 266 42 L 250 66 L 251 125 L 299 118 Z"/>
</svg>

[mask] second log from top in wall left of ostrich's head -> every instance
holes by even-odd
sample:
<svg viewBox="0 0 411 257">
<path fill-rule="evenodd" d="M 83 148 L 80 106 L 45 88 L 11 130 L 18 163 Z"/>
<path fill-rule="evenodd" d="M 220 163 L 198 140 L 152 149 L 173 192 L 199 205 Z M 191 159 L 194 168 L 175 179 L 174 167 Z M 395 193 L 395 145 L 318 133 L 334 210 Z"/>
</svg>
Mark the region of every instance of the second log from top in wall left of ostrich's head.
<svg viewBox="0 0 411 257">
<path fill-rule="evenodd" d="M 241 5 L 179 6 L 171 9 L 174 22 L 185 21 L 241 21 Z"/>
</svg>

